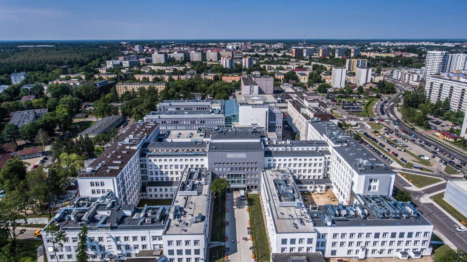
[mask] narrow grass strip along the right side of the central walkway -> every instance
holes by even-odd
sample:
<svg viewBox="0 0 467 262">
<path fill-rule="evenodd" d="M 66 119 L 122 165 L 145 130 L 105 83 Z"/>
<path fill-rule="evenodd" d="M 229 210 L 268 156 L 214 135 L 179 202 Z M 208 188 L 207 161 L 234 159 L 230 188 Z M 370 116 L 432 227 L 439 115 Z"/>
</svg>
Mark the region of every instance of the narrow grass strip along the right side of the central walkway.
<svg viewBox="0 0 467 262">
<path fill-rule="evenodd" d="M 255 257 L 257 261 L 270 261 L 270 249 L 268 235 L 263 220 L 263 211 L 260 196 L 248 194 L 248 208 L 250 209 L 251 227 L 253 228 L 253 244 L 255 246 Z M 257 236 L 257 238 L 256 238 Z M 260 257 L 258 257 L 260 255 Z"/>
</svg>

